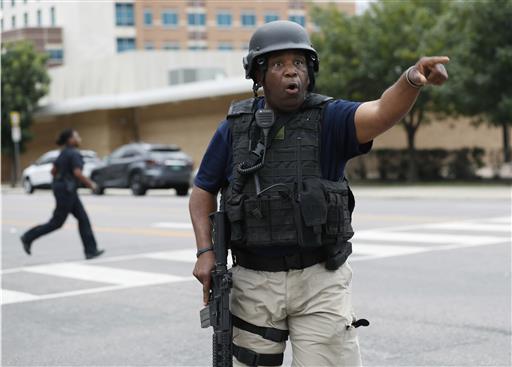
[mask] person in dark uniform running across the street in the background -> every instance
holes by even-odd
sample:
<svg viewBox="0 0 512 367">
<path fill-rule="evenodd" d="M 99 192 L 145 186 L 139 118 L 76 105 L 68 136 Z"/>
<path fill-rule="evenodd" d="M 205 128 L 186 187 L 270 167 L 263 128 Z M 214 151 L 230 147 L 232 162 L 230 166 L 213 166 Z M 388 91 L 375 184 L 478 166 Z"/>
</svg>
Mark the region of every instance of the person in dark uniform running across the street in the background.
<svg viewBox="0 0 512 367">
<path fill-rule="evenodd" d="M 23 249 L 28 255 L 31 254 L 32 242 L 62 227 L 70 213 L 78 220 L 85 258 L 93 259 L 104 253 L 104 250 L 97 248 L 89 217 L 77 193 L 79 182 L 91 190 L 96 186 L 82 173 L 84 162 L 77 149 L 81 141 L 80 135 L 73 129 L 63 130 L 57 139 L 57 145 L 63 147 L 52 168 L 52 190 L 57 205 L 52 218 L 47 223 L 35 226 L 21 236 Z"/>
</svg>

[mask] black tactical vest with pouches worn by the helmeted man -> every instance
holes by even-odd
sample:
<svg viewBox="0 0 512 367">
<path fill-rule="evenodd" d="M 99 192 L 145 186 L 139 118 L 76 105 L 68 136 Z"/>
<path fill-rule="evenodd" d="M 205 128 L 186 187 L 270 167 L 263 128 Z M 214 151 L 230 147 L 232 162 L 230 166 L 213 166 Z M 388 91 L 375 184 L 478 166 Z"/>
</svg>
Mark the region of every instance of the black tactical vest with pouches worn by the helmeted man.
<svg viewBox="0 0 512 367">
<path fill-rule="evenodd" d="M 254 124 L 256 102 L 248 99 L 231 105 L 227 118 L 233 179 L 223 191 L 231 248 L 312 248 L 345 243 L 353 236 L 353 197 L 347 181 L 325 180 L 320 168 L 321 122 L 330 99 L 309 94 L 298 112 L 276 118 L 265 164 L 256 172 L 260 195 L 256 194 L 255 174 L 237 170 L 250 159 L 261 135 Z"/>
</svg>

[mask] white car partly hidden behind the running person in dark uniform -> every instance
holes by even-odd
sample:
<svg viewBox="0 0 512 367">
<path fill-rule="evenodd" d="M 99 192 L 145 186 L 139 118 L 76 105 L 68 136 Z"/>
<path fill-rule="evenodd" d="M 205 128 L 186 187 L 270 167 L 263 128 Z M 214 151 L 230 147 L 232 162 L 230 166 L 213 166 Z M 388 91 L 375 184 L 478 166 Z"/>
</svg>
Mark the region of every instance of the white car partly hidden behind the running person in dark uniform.
<svg viewBox="0 0 512 367">
<path fill-rule="evenodd" d="M 23 170 L 23 189 L 27 194 L 32 194 L 36 188 L 51 188 L 53 162 L 59 154 L 60 150 L 51 150 Z M 91 171 L 101 163 L 101 160 L 92 150 L 81 150 L 80 154 L 84 160 L 84 176 L 90 177 Z"/>
</svg>

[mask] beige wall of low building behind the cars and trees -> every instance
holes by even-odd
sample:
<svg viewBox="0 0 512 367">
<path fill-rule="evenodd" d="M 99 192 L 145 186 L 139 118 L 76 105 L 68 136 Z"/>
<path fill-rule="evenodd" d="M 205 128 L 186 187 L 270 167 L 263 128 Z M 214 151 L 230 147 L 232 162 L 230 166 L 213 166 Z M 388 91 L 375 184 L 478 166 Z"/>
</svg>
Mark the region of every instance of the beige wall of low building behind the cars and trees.
<svg viewBox="0 0 512 367">
<path fill-rule="evenodd" d="M 190 154 L 198 167 L 218 124 L 225 118 L 232 100 L 250 97 L 250 92 L 180 103 L 166 103 L 138 109 L 91 111 L 36 120 L 32 126 L 34 139 L 22 154 L 22 167 L 41 154 L 55 149 L 55 138 L 66 127 L 77 129 L 83 148 L 93 149 L 100 156 L 109 154 L 122 144 L 136 139 L 149 143 L 172 143 Z M 136 127 L 138 125 L 138 128 Z M 474 127 L 468 120 L 446 120 L 426 124 L 417 133 L 418 148 L 456 149 L 482 147 L 487 160 L 501 160 L 501 129 L 487 125 Z M 406 136 L 396 126 L 376 139 L 374 149 L 404 148 Z M 2 157 L 2 178 L 9 179 L 10 161 Z"/>
</svg>

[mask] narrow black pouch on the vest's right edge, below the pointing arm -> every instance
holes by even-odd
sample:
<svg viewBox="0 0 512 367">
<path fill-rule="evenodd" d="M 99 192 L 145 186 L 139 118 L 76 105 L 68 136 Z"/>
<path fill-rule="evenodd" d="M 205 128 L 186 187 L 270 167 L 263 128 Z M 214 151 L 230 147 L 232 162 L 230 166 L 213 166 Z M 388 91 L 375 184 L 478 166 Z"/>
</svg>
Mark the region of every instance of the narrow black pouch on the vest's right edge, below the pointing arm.
<svg viewBox="0 0 512 367">
<path fill-rule="evenodd" d="M 349 204 L 349 187 L 346 180 L 322 180 L 323 192 L 327 200 L 327 220 L 325 234 L 328 237 L 348 241 L 354 235 Z M 353 199 L 352 199 L 353 200 Z"/>
</svg>

